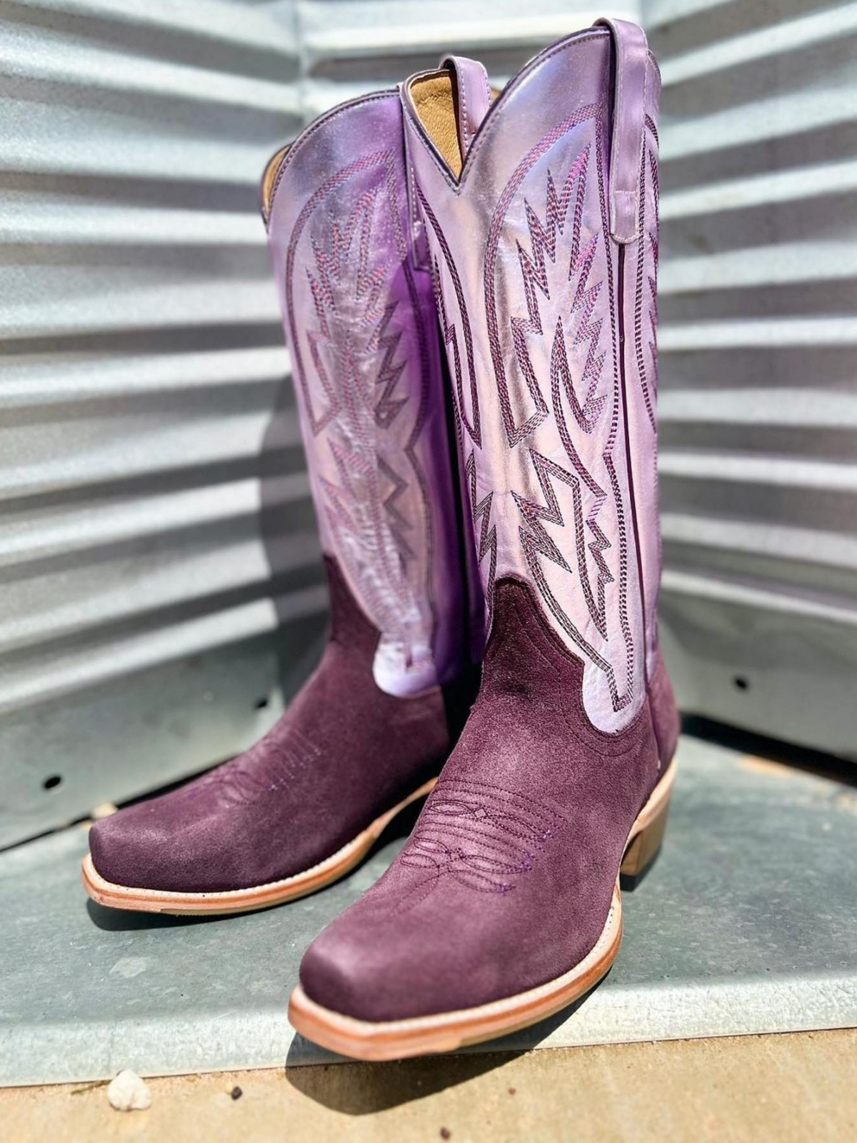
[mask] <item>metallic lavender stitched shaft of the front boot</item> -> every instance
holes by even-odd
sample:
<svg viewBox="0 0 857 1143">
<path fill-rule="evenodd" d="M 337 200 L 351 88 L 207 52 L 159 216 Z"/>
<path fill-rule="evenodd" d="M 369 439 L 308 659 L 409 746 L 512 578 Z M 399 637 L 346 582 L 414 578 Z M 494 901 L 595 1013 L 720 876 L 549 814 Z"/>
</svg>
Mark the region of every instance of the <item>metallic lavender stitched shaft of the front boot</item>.
<svg viewBox="0 0 857 1143">
<path fill-rule="evenodd" d="M 608 732 L 646 700 L 659 580 L 658 75 L 644 40 L 619 45 L 612 106 L 607 31 L 534 61 L 460 182 L 421 119 L 432 79 L 416 77 L 405 99 L 442 321 L 455 330 L 486 593 L 505 575 L 531 585 L 582 656 L 588 717 Z"/>
</svg>

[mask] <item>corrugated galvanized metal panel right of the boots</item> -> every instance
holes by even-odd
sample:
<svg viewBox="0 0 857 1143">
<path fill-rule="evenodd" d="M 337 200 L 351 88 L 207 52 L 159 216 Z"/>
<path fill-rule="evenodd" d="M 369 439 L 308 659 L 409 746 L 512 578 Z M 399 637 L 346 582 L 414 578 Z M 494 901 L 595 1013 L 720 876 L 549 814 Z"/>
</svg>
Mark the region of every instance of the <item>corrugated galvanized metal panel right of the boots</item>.
<svg viewBox="0 0 857 1143">
<path fill-rule="evenodd" d="M 857 757 L 857 5 L 649 0 L 682 706 Z"/>
</svg>

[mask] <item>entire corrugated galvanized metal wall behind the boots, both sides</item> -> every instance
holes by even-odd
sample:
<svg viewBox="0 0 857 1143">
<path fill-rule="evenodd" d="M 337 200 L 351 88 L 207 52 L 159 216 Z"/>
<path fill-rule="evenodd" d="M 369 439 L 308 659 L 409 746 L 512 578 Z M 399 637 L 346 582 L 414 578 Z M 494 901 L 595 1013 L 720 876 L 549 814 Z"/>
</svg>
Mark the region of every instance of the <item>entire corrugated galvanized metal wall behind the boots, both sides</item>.
<svg viewBox="0 0 857 1143">
<path fill-rule="evenodd" d="M 662 628 L 680 697 L 854 753 L 857 5 L 607 10 L 642 17 L 664 72 Z M 0 844 L 242 748 L 313 657 L 325 593 L 265 159 L 441 51 L 502 83 L 601 14 L 0 2 Z"/>
</svg>

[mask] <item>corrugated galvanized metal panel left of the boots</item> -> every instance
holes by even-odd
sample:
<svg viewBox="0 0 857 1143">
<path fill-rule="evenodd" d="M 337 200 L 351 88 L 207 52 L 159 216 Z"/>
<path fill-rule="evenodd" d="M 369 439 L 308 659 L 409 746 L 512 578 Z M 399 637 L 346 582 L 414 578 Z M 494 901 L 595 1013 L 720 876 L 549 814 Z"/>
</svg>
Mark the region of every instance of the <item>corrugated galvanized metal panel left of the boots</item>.
<svg viewBox="0 0 857 1143">
<path fill-rule="evenodd" d="M 257 207 L 291 5 L 0 3 L 0 845 L 242 749 L 318 547 Z"/>
</svg>

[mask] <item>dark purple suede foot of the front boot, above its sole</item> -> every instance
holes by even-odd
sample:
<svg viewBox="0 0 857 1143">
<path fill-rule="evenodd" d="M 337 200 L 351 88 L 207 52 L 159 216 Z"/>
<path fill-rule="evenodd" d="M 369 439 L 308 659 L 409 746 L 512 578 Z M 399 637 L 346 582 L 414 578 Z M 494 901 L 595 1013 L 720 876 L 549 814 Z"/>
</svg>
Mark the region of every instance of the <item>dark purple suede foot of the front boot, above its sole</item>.
<svg viewBox="0 0 857 1143">
<path fill-rule="evenodd" d="M 579 662 L 544 641 L 515 592 L 506 604 L 524 614 L 506 609 L 411 838 L 304 957 L 302 985 L 325 1007 L 387 1021 L 486 1004 L 562 975 L 601 935 L 658 777 L 648 706 L 619 734 L 595 730 Z"/>
</svg>

